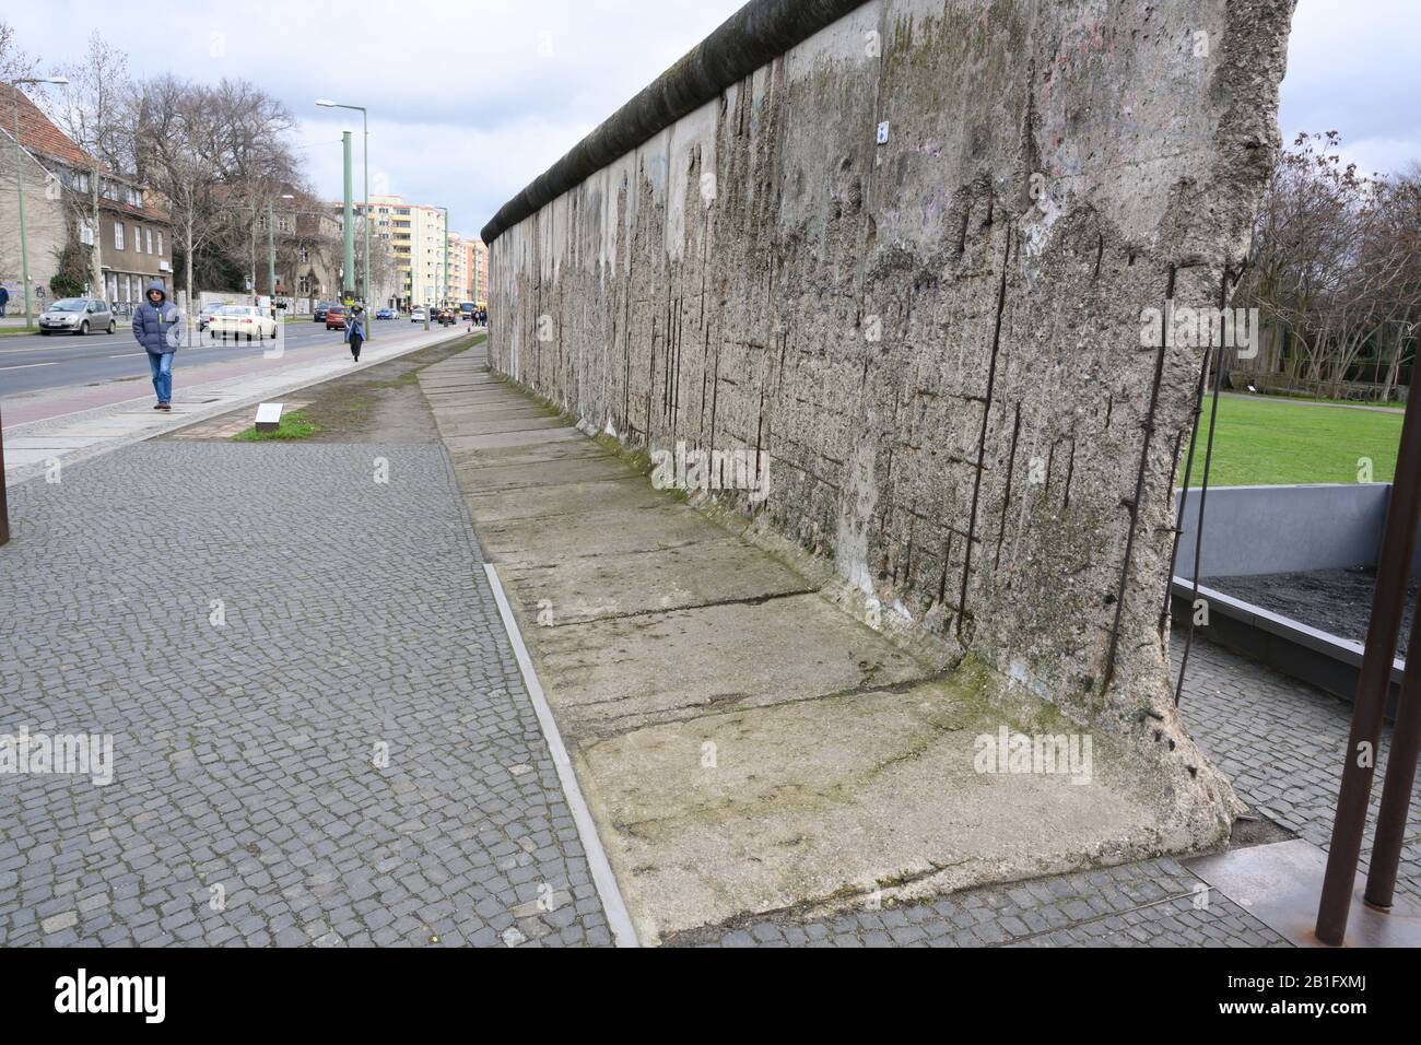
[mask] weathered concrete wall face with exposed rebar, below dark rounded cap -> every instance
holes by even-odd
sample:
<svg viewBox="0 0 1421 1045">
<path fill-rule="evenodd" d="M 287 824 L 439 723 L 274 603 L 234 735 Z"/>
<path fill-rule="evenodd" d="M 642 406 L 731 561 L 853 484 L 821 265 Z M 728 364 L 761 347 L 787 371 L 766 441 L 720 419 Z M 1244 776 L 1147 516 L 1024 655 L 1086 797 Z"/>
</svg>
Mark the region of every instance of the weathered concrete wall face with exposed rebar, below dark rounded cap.
<svg viewBox="0 0 1421 1045">
<path fill-rule="evenodd" d="M 1245 256 L 1290 14 L 865 3 L 497 235 L 495 365 L 630 446 L 766 454 L 723 499 L 887 618 L 1172 722 L 1201 350 L 1141 311 Z"/>
</svg>

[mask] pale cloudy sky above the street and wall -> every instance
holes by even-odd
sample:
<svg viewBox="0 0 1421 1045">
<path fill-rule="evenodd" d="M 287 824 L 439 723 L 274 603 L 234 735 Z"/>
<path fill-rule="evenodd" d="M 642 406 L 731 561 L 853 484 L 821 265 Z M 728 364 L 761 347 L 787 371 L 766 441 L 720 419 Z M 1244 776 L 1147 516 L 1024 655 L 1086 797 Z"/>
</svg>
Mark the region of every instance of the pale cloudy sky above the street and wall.
<svg viewBox="0 0 1421 1045">
<path fill-rule="evenodd" d="M 685 54 L 743 0 L 244 0 L 6 4 L 44 64 L 112 31 L 139 75 L 246 77 L 301 121 L 317 191 L 341 193 L 342 129 L 371 111 L 371 192 L 448 206 L 473 236 L 495 210 Z M 1179 0 L 1187 1 L 1187 0 Z M 1363 172 L 1421 161 L 1421 0 L 1300 0 L 1285 139 L 1340 131 Z M 115 17 L 117 16 L 117 17 Z M 357 43 L 357 38 L 360 43 Z"/>
</svg>

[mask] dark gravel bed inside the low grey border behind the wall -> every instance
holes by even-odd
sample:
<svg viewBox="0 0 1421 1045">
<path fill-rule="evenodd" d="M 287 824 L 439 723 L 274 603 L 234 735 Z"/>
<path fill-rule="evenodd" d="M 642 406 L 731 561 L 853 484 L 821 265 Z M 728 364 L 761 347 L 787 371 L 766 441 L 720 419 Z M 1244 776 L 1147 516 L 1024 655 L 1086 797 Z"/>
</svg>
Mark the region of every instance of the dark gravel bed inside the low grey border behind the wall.
<svg viewBox="0 0 1421 1045">
<path fill-rule="evenodd" d="M 1370 566 L 1304 573 L 1265 573 L 1255 577 L 1201 577 L 1199 583 L 1265 610 L 1292 617 L 1339 638 L 1364 641 L 1371 618 L 1377 572 Z M 1397 655 L 1405 651 L 1415 610 L 1417 582 L 1407 586 L 1407 607 Z"/>
</svg>

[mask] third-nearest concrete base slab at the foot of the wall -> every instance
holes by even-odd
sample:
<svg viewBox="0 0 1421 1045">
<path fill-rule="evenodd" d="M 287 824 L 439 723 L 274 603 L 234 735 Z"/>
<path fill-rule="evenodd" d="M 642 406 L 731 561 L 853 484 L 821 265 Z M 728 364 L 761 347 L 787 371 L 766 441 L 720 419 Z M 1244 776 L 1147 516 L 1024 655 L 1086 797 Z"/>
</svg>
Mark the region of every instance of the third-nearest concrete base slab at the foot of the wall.
<svg viewBox="0 0 1421 1045">
<path fill-rule="evenodd" d="M 523 616 L 554 627 L 810 590 L 736 537 L 655 552 L 587 554 L 504 567 Z M 539 620 L 543 623 L 543 620 Z"/>
</svg>

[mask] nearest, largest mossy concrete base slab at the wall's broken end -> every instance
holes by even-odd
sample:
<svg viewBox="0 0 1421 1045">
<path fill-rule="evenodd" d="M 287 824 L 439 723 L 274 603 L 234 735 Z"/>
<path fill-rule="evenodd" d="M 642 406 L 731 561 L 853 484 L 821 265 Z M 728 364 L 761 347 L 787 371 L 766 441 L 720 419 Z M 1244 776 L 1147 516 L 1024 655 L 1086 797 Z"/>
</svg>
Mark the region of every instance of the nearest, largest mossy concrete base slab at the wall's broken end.
<svg viewBox="0 0 1421 1045">
<path fill-rule="evenodd" d="M 644 941 L 1150 852 L 1147 809 L 1098 751 L 1086 783 L 978 773 L 976 738 L 1003 715 L 958 684 L 779 704 L 584 744 L 578 776 Z"/>
</svg>

